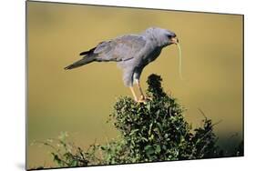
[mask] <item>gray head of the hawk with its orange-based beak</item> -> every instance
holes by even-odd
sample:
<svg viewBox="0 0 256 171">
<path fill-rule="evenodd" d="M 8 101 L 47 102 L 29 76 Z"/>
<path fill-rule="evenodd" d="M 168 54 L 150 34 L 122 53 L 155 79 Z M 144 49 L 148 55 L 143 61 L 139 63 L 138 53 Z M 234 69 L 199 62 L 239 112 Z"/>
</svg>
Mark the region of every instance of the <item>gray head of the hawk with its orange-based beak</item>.
<svg viewBox="0 0 256 171">
<path fill-rule="evenodd" d="M 159 46 L 178 44 L 179 39 L 174 32 L 159 27 L 149 27 L 145 34 L 155 41 Z"/>
</svg>

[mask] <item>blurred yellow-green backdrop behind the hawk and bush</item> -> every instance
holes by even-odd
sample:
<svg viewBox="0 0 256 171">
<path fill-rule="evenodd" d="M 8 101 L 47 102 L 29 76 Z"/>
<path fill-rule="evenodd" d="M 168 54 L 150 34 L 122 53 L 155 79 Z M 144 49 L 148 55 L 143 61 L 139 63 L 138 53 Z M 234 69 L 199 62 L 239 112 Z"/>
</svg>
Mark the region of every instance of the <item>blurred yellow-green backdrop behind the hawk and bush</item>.
<svg viewBox="0 0 256 171">
<path fill-rule="evenodd" d="M 162 76 L 166 91 L 188 110 L 193 127 L 204 111 L 220 136 L 220 145 L 242 138 L 242 15 L 218 15 L 95 5 L 27 2 L 28 166 L 54 166 L 45 146 L 31 146 L 67 131 L 77 146 L 104 143 L 117 136 L 108 115 L 118 96 L 131 96 L 115 63 L 93 63 L 66 71 L 79 53 L 118 35 L 159 26 L 179 37 L 184 81 L 179 79 L 178 48 L 166 47 L 148 65 Z M 238 133 L 239 136 L 231 137 Z"/>
</svg>

